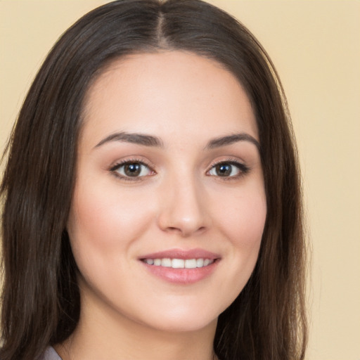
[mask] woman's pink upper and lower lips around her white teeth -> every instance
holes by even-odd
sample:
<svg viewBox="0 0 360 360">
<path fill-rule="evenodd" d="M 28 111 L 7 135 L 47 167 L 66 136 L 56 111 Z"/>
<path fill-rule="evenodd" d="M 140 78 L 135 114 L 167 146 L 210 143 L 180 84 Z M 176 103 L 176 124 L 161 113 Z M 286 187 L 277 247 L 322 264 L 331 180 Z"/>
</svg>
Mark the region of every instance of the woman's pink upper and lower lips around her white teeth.
<svg viewBox="0 0 360 360">
<path fill-rule="evenodd" d="M 210 276 L 219 264 L 220 255 L 214 254 L 214 252 L 209 252 L 203 249 L 191 249 L 191 250 L 181 250 L 181 249 L 172 249 L 165 250 L 160 252 L 153 252 L 151 254 L 144 255 L 139 257 L 139 260 L 143 259 L 211 259 L 214 262 L 210 265 L 195 268 L 195 269 L 172 269 L 171 267 L 165 266 L 155 266 L 146 264 L 146 262 L 141 261 L 143 266 L 146 267 L 148 271 L 154 276 L 161 278 L 162 280 L 168 281 L 170 283 L 178 284 L 192 284 L 197 283 L 198 281 L 207 278 Z"/>
</svg>

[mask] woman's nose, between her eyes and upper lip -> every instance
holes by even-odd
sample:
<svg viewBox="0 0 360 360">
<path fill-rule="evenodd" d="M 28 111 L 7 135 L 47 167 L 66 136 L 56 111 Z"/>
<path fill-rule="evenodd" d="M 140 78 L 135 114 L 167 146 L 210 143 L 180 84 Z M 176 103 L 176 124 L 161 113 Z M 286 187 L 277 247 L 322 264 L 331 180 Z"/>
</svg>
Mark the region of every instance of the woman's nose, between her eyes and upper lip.
<svg viewBox="0 0 360 360">
<path fill-rule="evenodd" d="M 168 181 L 161 189 L 158 225 L 162 231 L 186 238 L 210 227 L 205 191 L 195 179 Z"/>
</svg>

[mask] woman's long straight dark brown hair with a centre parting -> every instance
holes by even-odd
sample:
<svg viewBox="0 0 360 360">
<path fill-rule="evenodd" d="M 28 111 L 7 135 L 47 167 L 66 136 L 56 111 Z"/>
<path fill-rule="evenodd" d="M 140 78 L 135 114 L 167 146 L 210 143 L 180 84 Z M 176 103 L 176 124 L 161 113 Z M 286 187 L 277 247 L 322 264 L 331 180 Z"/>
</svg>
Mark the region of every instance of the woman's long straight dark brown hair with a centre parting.
<svg viewBox="0 0 360 360">
<path fill-rule="evenodd" d="M 191 51 L 217 60 L 250 98 L 259 129 L 267 217 L 255 270 L 219 316 L 224 360 L 304 359 L 305 245 L 295 141 L 266 51 L 229 14 L 200 0 L 120 0 L 84 15 L 41 66 L 8 143 L 1 183 L 2 360 L 36 359 L 79 320 L 77 266 L 65 230 L 86 91 L 130 53 Z"/>
</svg>

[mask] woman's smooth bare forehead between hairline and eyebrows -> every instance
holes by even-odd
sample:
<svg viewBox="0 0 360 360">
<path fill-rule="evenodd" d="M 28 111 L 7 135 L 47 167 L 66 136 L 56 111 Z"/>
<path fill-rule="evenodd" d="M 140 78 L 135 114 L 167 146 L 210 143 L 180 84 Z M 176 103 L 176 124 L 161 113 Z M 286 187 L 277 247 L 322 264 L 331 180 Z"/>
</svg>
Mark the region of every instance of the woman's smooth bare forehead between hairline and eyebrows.
<svg viewBox="0 0 360 360">
<path fill-rule="evenodd" d="M 137 131 L 166 138 L 187 136 L 184 128 L 188 134 L 246 131 L 258 138 L 238 79 L 216 61 L 193 53 L 139 53 L 116 60 L 86 96 L 85 132 Z"/>
</svg>

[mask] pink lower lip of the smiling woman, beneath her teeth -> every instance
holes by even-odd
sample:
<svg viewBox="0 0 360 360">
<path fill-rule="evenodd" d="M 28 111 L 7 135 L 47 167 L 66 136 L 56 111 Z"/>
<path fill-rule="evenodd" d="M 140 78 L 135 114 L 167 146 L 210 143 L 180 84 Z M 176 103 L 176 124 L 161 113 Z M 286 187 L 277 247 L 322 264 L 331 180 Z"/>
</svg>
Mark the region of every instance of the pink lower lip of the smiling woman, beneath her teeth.
<svg viewBox="0 0 360 360">
<path fill-rule="evenodd" d="M 218 262 L 219 259 L 210 265 L 194 269 L 173 269 L 172 267 L 149 265 L 146 264 L 146 262 L 142 263 L 151 274 L 169 281 L 170 283 L 192 284 L 210 276 L 216 269 Z"/>
</svg>

